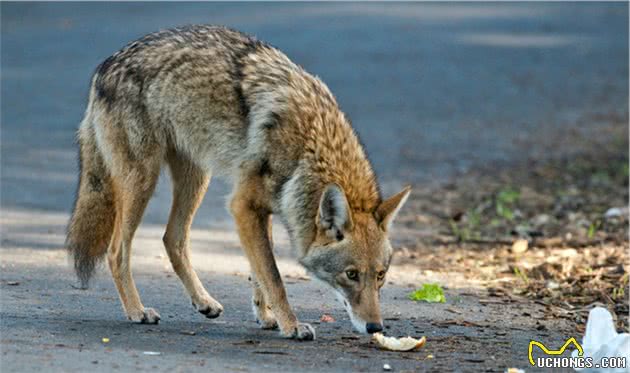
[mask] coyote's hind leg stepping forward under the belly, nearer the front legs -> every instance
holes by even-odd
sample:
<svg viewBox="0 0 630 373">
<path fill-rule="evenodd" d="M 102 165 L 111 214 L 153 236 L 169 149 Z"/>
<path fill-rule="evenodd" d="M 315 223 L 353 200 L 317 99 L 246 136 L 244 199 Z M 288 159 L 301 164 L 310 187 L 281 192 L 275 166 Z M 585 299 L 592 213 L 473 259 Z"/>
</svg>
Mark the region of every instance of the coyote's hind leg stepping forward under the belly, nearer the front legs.
<svg viewBox="0 0 630 373">
<path fill-rule="evenodd" d="M 164 246 L 173 269 L 192 299 L 193 307 L 208 318 L 219 317 L 223 306 L 204 288 L 190 263 L 190 226 L 203 200 L 210 178 L 185 157 L 168 155 L 173 181 L 173 205 L 164 234 Z"/>
</svg>

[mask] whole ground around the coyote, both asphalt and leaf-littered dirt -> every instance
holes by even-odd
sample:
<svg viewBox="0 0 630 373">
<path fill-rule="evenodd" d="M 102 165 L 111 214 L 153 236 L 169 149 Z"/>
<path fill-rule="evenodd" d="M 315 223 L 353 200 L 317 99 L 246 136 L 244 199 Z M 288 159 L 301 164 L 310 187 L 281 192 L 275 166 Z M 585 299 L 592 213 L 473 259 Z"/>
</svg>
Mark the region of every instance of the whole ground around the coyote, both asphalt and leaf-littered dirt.
<svg viewBox="0 0 630 373">
<path fill-rule="evenodd" d="M 529 341 L 580 340 L 595 304 L 627 330 L 627 4 L 3 3 L 1 15 L 3 373 L 536 371 Z M 219 319 L 192 309 L 166 257 L 167 177 L 133 254 L 143 302 L 162 322 L 128 322 L 107 268 L 76 288 L 63 242 L 90 74 L 129 40 L 187 23 L 283 49 L 337 95 L 383 192 L 413 184 L 382 309 L 387 334 L 424 335 L 421 350 L 382 351 L 355 334 L 279 225 L 290 303 L 318 338 L 258 329 L 220 180 L 192 232 Z M 408 298 L 426 283 L 446 303 Z"/>
</svg>

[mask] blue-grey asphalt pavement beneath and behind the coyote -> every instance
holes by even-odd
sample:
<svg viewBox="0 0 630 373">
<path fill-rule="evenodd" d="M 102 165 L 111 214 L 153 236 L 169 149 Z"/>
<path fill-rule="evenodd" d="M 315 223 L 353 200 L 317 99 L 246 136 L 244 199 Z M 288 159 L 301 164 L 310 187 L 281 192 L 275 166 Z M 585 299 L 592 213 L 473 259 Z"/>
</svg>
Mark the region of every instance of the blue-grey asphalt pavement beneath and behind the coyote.
<svg viewBox="0 0 630 373">
<path fill-rule="evenodd" d="M 193 232 L 195 267 L 226 310 L 204 320 L 161 247 L 170 205 L 165 177 L 133 261 L 143 301 L 163 322 L 132 325 L 106 269 L 92 289 L 72 287 L 63 236 L 77 182 L 74 131 L 91 73 L 108 55 L 161 28 L 223 24 L 270 42 L 320 76 L 352 119 L 384 190 L 394 192 L 478 165 L 553 155 L 545 139 L 598 136 L 601 121 L 627 116 L 627 4 L 2 3 L 0 10 L 2 372 L 380 371 L 385 363 L 502 371 L 527 367 L 530 338 L 567 338 L 561 321 L 536 324 L 534 306 L 484 305 L 475 284 L 394 266 L 383 294 L 387 331 L 429 342 L 415 354 L 379 351 L 366 337 L 352 339 L 325 289 L 300 279 L 281 227 L 278 257 L 298 317 L 316 323 L 329 313 L 337 321 L 316 324 L 312 343 L 260 331 L 220 181 Z M 449 302 L 406 300 L 408 285 L 425 281 L 447 285 Z M 477 326 L 440 326 L 449 320 Z"/>
</svg>

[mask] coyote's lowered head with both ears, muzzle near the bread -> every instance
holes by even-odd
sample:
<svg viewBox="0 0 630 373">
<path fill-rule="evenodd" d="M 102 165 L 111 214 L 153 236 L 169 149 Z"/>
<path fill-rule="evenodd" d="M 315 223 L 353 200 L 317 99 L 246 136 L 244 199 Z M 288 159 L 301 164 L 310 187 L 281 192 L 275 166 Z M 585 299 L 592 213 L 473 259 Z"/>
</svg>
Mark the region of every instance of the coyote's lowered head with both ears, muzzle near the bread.
<svg viewBox="0 0 630 373">
<path fill-rule="evenodd" d="M 300 262 L 335 290 L 361 333 L 383 329 L 379 292 L 392 257 L 388 231 L 409 192 L 403 189 L 372 212 L 352 211 L 335 184 L 320 199 L 316 237 Z"/>
</svg>

